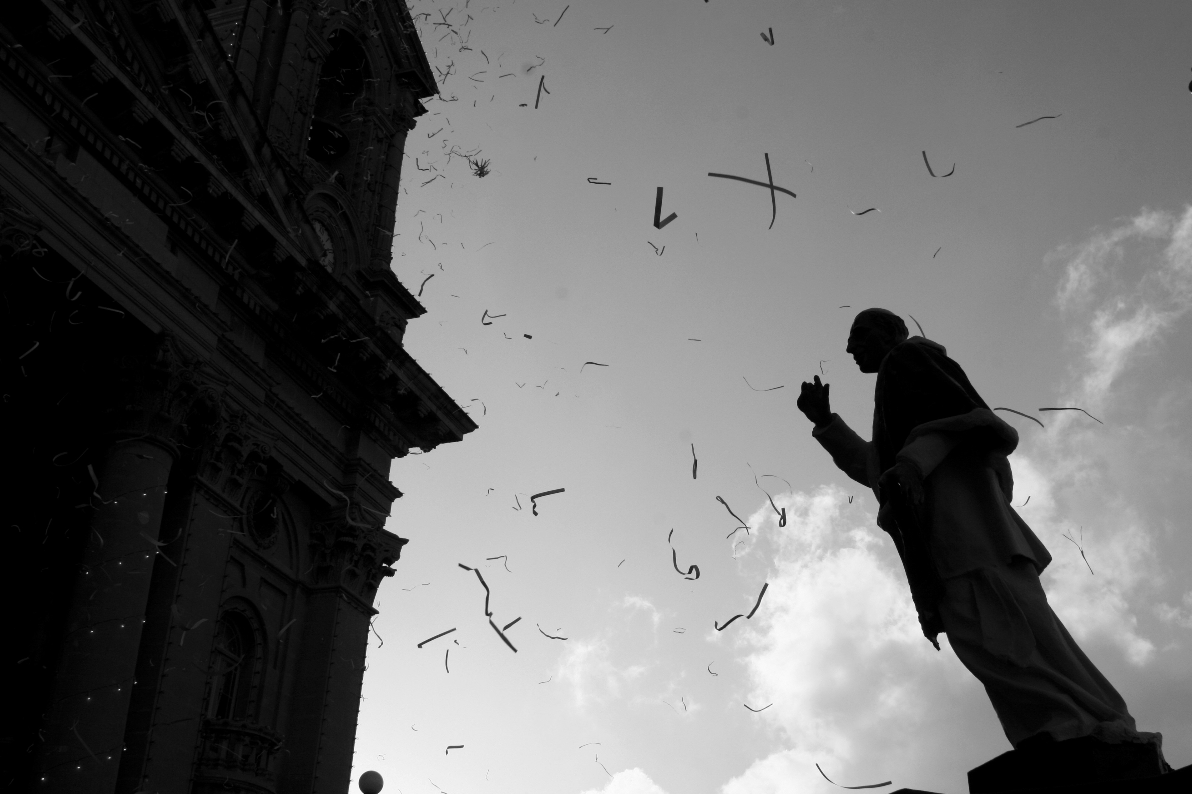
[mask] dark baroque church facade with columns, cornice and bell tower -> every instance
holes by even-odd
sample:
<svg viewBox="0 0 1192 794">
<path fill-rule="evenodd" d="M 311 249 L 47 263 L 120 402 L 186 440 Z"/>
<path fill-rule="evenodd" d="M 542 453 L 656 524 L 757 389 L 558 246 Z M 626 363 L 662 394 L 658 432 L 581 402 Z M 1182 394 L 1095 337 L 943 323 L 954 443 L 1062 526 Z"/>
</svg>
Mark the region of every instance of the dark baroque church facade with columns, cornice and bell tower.
<svg viewBox="0 0 1192 794">
<path fill-rule="evenodd" d="M 405 352 L 403 0 L 0 4 L 8 790 L 348 790 Z"/>
</svg>

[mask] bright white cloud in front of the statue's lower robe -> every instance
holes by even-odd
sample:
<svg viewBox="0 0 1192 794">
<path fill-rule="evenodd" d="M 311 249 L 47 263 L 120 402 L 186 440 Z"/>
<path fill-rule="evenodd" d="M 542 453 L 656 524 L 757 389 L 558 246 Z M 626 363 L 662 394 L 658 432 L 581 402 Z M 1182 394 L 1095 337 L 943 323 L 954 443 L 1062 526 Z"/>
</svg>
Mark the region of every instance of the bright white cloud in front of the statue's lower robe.
<svg viewBox="0 0 1192 794">
<path fill-rule="evenodd" d="M 750 704 L 774 704 L 757 719 L 790 746 L 755 762 L 724 793 L 827 786 L 817 763 L 848 786 L 901 777 L 900 786 L 920 787 L 929 781 L 912 770 L 925 754 L 948 752 L 963 743 L 962 733 L 968 742 L 982 734 L 997 740 L 1000 726 L 982 706 L 980 684 L 950 649 L 937 652 L 924 638 L 898 557 L 874 517 L 836 487 L 775 502 L 787 508 L 784 529 L 769 505 L 770 517 L 751 517 L 758 527 L 751 549 L 771 557 L 774 570 L 765 607 L 739 642 L 750 646 Z M 963 775 L 966 754 L 956 755 L 962 761 L 952 771 Z M 962 780 L 932 782 L 955 787 Z"/>
</svg>

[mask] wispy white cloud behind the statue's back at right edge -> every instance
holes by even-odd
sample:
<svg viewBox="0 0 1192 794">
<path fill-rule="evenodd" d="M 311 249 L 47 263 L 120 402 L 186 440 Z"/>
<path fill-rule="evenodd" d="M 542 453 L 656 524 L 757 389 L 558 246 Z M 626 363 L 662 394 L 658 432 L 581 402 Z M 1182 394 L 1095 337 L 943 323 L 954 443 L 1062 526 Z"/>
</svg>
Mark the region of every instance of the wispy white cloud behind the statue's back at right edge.
<svg viewBox="0 0 1192 794">
<path fill-rule="evenodd" d="M 1012 459 L 1016 492 L 1031 498 L 1020 512 L 1055 557 L 1043 577 L 1053 608 L 1078 642 L 1109 640 L 1143 665 L 1156 650 L 1138 614 L 1177 568 L 1161 543 L 1168 519 L 1135 473 L 1192 475 L 1186 444 L 1173 442 L 1192 419 L 1187 368 L 1147 367 L 1192 311 L 1192 207 L 1143 211 L 1050 258 L 1063 263 L 1055 302 L 1079 363 L 1049 405 L 1105 424 L 1047 414 Z"/>
</svg>

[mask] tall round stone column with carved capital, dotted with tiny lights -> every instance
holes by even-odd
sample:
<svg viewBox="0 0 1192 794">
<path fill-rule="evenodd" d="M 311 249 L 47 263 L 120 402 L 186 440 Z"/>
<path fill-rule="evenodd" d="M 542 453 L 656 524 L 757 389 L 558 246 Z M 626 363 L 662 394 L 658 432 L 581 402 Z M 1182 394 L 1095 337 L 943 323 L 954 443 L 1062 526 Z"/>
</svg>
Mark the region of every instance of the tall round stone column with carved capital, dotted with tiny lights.
<svg viewBox="0 0 1192 794">
<path fill-rule="evenodd" d="M 213 405 L 168 336 L 149 355 L 128 356 L 98 458 L 92 521 L 67 615 L 38 783 L 44 790 L 111 794 L 123 750 L 137 649 L 156 557 L 174 439 Z M 203 400 L 203 398 L 209 398 Z M 201 411 L 199 412 L 201 414 Z M 192 424 L 193 426 L 193 424 Z"/>
</svg>

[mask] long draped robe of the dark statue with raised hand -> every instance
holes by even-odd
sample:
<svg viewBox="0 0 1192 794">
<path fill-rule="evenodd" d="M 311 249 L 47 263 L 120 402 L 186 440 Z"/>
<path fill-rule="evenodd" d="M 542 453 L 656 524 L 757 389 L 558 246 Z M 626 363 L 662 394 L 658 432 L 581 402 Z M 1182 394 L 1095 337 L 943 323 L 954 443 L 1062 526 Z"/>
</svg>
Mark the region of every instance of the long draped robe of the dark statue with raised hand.
<svg viewBox="0 0 1192 794">
<path fill-rule="evenodd" d="M 936 631 L 985 684 L 1011 744 L 1037 734 L 1153 740 L 1135 730 L 1122 696 L 1048 605 L 1038 575 L 1051 555 L 1010 504 L 1006 456 L 1018 433 L 943 345 L 912 337 L 886 356 L 873 432 L 864 442 L 832 414 L 812 434 L 845 474 L 874 489 L 883 529 L 894 527 L 879 477 L 899 462 L 919 469 L 925 501 L 915 512 L 939 576 Z"/>
</svg>

